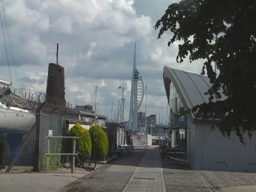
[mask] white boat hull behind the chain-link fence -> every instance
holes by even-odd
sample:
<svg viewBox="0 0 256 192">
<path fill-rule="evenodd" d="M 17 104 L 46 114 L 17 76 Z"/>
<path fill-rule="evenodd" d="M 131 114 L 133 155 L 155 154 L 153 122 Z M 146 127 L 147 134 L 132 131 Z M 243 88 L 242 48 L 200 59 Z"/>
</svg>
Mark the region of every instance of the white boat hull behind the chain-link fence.
<svg viewBox="0 0 256 192">
<path fill-rule="evenodd" d="M 4 85 L 4 88 L 0 89 L 2 92 L 0 92 L 0 129 L 29 132 L 36 122 L 35 113 L 6 105 L 2 99 L 12 93 L 9 88 L 10 83 L 0 80 L 0 84 Z"/>
</svg>

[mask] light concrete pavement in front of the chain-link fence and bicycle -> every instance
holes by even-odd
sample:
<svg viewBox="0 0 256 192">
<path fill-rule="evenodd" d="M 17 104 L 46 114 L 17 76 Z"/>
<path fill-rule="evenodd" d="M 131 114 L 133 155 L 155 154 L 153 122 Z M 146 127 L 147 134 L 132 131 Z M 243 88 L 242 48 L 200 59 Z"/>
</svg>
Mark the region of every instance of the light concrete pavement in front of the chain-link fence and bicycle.
<svg viewBox="0 0 256 192">
<path fill-rule="evenodd" d="M 88 173 L 83 168 L 75 168 L 74 173 L 63 168 L 41 173 L 0 174 L 0 191 L 55 192 Z"/>
</svg>

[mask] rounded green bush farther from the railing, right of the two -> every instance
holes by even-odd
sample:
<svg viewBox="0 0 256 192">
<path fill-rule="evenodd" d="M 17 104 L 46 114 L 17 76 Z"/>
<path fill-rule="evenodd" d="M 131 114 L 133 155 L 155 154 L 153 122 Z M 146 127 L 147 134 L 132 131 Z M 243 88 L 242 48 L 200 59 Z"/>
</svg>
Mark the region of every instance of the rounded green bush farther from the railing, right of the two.
<svg viewBox="0 0 256 192">
<path fill-rule="evenodd" d="M 101 126 L 95 124 L 89 129 L 92 140 L 92 156 L 104 160 L 108 152 L 108 138 Z"/>
</svg>

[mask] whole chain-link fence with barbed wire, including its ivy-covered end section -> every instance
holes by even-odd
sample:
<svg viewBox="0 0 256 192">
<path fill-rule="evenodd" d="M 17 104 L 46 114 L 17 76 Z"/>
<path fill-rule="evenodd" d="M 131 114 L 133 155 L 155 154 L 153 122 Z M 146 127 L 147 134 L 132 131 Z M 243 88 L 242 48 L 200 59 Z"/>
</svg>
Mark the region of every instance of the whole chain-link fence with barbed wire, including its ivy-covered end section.
<svg viewBox="0 0 256 192">
<path fill-rule="evenodd" d="M 10 93 L 0 87 L 0 173 L 46 170 L 46 136 L 49 130 L 53 135 L 61 135 L 62 130 L 62 116 L 52 108 L 63 110 L 63 105 L 49 106 L 45 98 L 43 93 L 25 89 Z M 50 152 L 60 153 L 61 143 L 60 138 L 52 138 Z M 50 168 L 60 162 L 60 155 L 51 156 Z"/>
</svg>

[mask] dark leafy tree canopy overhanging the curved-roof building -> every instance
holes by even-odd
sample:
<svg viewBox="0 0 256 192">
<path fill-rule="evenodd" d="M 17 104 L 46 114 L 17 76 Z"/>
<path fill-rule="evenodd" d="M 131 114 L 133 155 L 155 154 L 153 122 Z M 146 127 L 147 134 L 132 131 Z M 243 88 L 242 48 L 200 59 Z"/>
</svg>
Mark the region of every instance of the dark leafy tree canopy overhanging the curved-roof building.
<svg viewBox="0 0 256 192">
<path fill-rule="evenodd" d="M 168 46 L 180 43 L 177 62 L 186 57 L 204 61 L 202 74 L 212 83 L 209 103 L 193 111 L 220 118 L 220 131 L 230 137 L 235 130 L 241 142 L 243 132 L 251 138 L 256 129 L 255 18 L 254 0 L 183 0 L 171 4 L 154 26 L 158 39 L 171 31 Z"/>
</svg>

